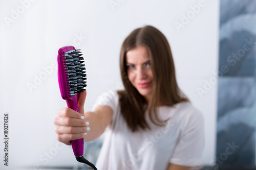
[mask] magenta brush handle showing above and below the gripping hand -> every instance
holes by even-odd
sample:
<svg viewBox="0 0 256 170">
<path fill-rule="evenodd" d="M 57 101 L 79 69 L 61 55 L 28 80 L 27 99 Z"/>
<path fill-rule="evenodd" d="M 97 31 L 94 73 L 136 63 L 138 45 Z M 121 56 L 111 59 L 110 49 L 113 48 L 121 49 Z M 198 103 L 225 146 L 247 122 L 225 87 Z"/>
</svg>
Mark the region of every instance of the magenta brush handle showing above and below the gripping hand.
<svg viewBox="0 0 256 170">
<path fill-rule="evenodd" d="M 77 100 L 67 100 L 67 105 L 69 108 L 79 112 Z M 83 138 L 71 140 L 71 145 L 76 157 L 83 156 Z"/>
</svg>

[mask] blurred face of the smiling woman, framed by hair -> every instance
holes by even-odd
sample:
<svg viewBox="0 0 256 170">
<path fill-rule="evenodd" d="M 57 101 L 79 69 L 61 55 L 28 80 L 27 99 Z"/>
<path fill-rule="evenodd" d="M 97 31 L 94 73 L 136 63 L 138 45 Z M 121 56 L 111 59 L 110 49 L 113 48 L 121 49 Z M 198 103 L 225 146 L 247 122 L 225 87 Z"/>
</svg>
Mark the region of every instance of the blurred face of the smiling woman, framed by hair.
<svg viewBox="0 0 256 170">
<path fill-rule="evenodd" d="M 137 46 L 126 53 L 128 78 L 144 98 L 150 101 L 153 93 L 153 73 L 147 48 Z"/>
</svg>

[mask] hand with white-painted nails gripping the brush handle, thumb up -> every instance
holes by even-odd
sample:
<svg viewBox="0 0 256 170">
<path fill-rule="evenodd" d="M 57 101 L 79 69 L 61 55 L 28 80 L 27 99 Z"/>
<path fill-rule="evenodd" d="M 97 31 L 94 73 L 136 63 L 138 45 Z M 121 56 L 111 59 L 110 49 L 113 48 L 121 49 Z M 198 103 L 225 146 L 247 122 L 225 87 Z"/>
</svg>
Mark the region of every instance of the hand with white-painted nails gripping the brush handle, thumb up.
<svg viewBox="0 0 256 170">
<path fill-rule="evenodd" d="M 89 122 L 84 119 L 83 106 L 86 100 L 86 94 L 86 91 L 79 94 L 78 109 L 80 113 L 70 108 L 58 110 L 58 115 L 53 122 L 58 141 L 71 145 L 71 140 L 83 138 L 90 130 L 88 127 Z"/>
</svg>

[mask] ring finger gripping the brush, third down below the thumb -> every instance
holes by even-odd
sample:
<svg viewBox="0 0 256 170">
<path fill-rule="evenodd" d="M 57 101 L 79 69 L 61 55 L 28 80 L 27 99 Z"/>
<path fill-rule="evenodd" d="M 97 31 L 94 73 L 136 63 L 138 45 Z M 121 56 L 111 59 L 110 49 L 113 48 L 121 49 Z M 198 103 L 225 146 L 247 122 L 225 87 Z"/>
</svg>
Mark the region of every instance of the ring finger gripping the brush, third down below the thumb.
<svg viewBox="0 0 256 170">
<path fill-rule="evenodd" d="M 76 126 L 56 126 L 55 132 L 57 134 L 74 134 L 74 133 L 87 133 L 90 131 L 89 127 L 76 127 Z"/>
</svg>

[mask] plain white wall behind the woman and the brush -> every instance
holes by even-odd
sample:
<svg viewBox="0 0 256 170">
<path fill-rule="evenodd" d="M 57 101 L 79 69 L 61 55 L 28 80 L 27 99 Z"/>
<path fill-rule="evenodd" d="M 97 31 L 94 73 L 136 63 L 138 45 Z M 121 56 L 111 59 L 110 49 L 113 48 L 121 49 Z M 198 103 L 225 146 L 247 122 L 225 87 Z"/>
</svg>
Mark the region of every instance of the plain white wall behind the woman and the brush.
<svg viewBox="0 0 256 170">
<path fill-rule="evenodd" d="M 113 2 L 119 5 L 112 8 L 110 1 L 0 0 L 0 136 L 4 138 L 3 117 L 8 112 L 9 167 L 77 164 L 71 148 L 63 147 L 54 132 L 57 110 L 66 107 L 56 66 L 51 65 L 57 51 L 70 44 L 81 49 L 88 75 L 85 108 L 90 110 L 101 92 L 119 87 L 121 43 L 131 31 L 145 25 L 158 28 L 167 37 L 179 86 L 204 114 L 203 158 L 205 164 L 211 164 L 216 148 L 217 84 L 201 97 L 197 88 L 216 80 L 212 72 L 218 66 L 219 1 Z M 174 23 L 184 23 L 182 15 L 200 3 L 200 11 L 178 30 Z M 50 72 L 35 85 L 35 77 L 45 72 L 43 67 Z M 28 83 L 36 88 L 29 89 Z M 3 163 L 0 168 L 7 169 Z"/>
</svg>

